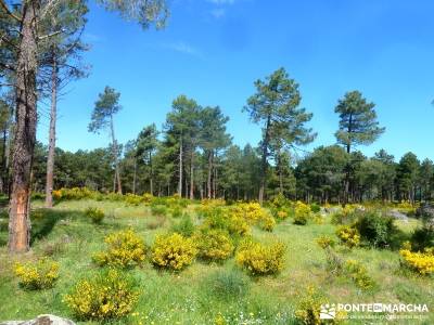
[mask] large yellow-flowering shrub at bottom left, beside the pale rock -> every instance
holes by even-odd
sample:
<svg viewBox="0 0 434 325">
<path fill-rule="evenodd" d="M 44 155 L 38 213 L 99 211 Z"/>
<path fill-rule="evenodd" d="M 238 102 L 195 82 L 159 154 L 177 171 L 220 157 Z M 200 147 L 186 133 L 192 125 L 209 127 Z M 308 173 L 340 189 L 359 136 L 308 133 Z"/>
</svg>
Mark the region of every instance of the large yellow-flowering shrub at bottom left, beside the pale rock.
<svg viewBox="0 0 434 325">
<path fill-rule="evenodd" d="M 79 281 L 64 301 L 80 321 L 104 321 L 130 313 L 138 298 L 130 277 L 108 270 Z"/>
</svg>

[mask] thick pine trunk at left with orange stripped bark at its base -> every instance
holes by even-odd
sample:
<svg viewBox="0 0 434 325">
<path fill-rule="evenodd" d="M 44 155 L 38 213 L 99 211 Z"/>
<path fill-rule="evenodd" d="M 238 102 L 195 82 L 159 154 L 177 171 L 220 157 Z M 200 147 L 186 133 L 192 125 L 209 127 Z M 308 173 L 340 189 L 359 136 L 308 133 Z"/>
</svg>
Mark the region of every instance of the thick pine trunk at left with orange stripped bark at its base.
<svg viewBox="0 0 434 325">
<path fill-rule="evenodd" d="M 30 245 L 30 171 L 36 141 L 36 75 L 38 1 L 23 2 L 20 51 L 16 65 L 16 127 L 9 209 L 9 250 L 24 252 Z"/>
</svg>

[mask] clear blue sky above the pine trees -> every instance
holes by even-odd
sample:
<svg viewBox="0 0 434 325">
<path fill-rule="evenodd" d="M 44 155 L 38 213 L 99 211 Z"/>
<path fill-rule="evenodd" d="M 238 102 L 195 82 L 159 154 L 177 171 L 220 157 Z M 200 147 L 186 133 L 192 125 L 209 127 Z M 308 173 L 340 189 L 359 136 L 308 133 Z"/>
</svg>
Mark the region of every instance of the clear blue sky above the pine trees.
<svg viewBox="0 0 434 325">
<path fill-rule="evenodd" d="M 234 143 L 256 145 L 260 128 L 242 107 L 254 80 L 283 66 L 314 113 L 318 138 L 307 150 L 335 143 L 334 106 L 357 89 L 386 127 L 373 145 L 360 147 L 366 155 L 384 147 L 397 158 L 412 151 L 434 160 L 434 1 L 171 0 L 170 10 L 167 27 L 155 31 L 90 3 L 85 40 L 92 49 L 85 61 L 92 70 L 60 101 L 60 147 L 107 145 L 104 134 L 87 132 L 106 84 L 122 93 L 115 123 L 123 143 L 149 123 L 161 127 L 171 101 L 186 94 L 219 105 Z M 47 143 L 43 115 L 38 139 Z"/>
</svg>

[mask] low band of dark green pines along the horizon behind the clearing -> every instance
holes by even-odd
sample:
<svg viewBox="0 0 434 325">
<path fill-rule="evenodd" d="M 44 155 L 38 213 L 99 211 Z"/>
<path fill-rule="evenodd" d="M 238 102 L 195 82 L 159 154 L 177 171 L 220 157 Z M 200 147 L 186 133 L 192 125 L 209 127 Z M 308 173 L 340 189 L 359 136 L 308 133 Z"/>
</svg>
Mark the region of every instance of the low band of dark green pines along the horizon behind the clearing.
<svg viewBox="0 0 434 325">
<path fill-rule="evenodd" d="M 158 141 L 149 159 L 136 159 L 132 142 L 128 143 L 120 159 L 122 184 L 125 193 L 151 193 L 156 196 L 177 193 L 176 160 L 168 152 L 174 147 Z M 97 148 L 76 153 L 56 150 L 55 184 L 60 187 L 87 186 L 102 192 L 113 191 L 112 150 Z M 407 153 L 398 162 L 384 150 L 373 157 L 360 152 L 347 154 L 341 146 L 320 146 L 297 161 L 295 167 L 284 155 L 281 165 L 271 166 L 267 173 L 267 197 L 282 193 L 291 199 L 318 203 L 339 203 L 344 198 L 345 167 L 350 165 L 350 200 L 431 200 L 434 192 L 434 167 L 430 159 L 419 160 Z M 43 192 L 46 182 L 47 147 L 38 143 L 35 161 L 34 192 Z M 208 161 L 203 152 L 195 153 L 194 197 L 206 198 Z M 229 145 L 214 158 L 212 197 L 228 199 L 256 199 L 258 195 L 260 156 L 258 148 Z M 280 177 L 281 168 L 282 177 Z M 151 173 L 151 169 L 153 170 Z M 190 180 L 183 196 L 189 197 Z M 136 179 L 136 182 L 135 182 Z M 136 183 L 136 185 L 135 185 Z"/>
</svg>

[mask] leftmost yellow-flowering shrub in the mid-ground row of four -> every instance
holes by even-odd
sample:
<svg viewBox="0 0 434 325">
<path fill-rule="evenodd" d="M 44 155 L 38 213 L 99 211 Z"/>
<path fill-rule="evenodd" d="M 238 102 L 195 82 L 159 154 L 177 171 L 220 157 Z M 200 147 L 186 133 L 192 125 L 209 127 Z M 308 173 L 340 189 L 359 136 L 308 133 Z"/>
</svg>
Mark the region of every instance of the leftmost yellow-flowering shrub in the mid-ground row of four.
<svg viewBox="0 0 434 325">
<path fill-rule="evenodd" d="M 107 249 L 93 255 L 93 261 L 101 266 L 131 268 L 144 261 L 144 242 L 132 230 L 110 234 L 104 242 Z"/>
</svg>

